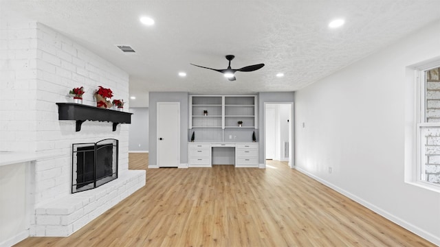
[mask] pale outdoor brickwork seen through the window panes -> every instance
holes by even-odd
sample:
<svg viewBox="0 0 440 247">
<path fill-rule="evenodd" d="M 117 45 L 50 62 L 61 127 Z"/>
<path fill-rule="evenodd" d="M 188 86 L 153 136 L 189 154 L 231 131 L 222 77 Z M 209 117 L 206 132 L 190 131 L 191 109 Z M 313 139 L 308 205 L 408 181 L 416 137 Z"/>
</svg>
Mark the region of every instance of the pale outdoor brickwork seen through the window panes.
<svg viewBox="0 0 440 247">
<path fill-rule="evenodd" d="M 426 76 L 426 119 L 440 121 L 440 68 L 432 69 Z M 440 128 L 423 128 L 425 145 L 425 175 L 430 183 L 440 184 Z"/>
</svg>

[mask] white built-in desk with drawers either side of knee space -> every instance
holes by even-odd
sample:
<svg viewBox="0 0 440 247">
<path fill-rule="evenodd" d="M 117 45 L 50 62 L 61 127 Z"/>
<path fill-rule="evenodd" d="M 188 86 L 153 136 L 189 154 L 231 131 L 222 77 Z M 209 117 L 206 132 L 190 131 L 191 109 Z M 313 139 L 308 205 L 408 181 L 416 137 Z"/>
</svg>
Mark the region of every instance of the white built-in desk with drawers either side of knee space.
<svg viewBox="0 0 440 247">
<path fill-rule="evenodd" d="M 188 167 L 217 164 L 259 167 L 259 143 L 188 143 Z"/>
</svg>

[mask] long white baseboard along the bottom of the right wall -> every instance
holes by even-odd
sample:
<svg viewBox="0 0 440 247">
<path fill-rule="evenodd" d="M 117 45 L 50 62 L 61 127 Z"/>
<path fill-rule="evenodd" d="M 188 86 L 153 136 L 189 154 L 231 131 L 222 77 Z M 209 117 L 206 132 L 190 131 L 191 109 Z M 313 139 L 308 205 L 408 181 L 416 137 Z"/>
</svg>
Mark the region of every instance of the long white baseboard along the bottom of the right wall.
<svg viewBox="0 0 440 247">
<path fill-rule="evenodd" d="M 323 185 L 326 185 L 327 187 L 338 191 L 339 193 L 342 193 L 342 195 L 347 196 L 351 200 L 354 200 L 355 202 L 358 202 L 359 204 L 362 204 L 362 206 L 366 207 L 367 209 L 370 209 L 371 211 L 374 211 L 375 213 L 382 215 L 387 220 L 391 220 L 391 222 L 394 222 L 395 224 L 398 224 L 399 226 L 405 228 L 406 230 L 414 233 L 415 235 L 419 235 L 420 237 L 423 237 L 424 239 L 428 240 L 429 242 L 432 242 L 432 244 L 437 244 L 440 246 L 440 237 L 432 235 L 431 233 L 428 233 L 424 231 L 423 229 L 410 224 L 409 222 L 406 222 L 405 220 L 402 220 L 399 217 L 396 217 L 395 215 L 388 213 L 388 211 L 385 211 L 381 209 L 380 207 L 375 206 L 374 204 L 371 204 L 370 202 L 367 202 L 366 200 L 363 200 L 362 198 L 359 198 L 358 196 L 353 195 L 352 193 L 349 193 L 348 191 L 345 191 L 344 189 L 341 189 L 340 187 L 337 187 L 336 185 L 333 185 L 332 183 L 327 182 L 326 180 L 323 180 L 322 178 L 319 178 L 318 176 L 315 176 L 314 174 L 311 174 L 307 172 L 305 169 L 302 169 L 301 167 L 294 167 L 294 169 L 298 170 L 298 172 L 301 172 L 310 178 L 313 178 L 314 180 L 319 181 Z"/>
</svg>

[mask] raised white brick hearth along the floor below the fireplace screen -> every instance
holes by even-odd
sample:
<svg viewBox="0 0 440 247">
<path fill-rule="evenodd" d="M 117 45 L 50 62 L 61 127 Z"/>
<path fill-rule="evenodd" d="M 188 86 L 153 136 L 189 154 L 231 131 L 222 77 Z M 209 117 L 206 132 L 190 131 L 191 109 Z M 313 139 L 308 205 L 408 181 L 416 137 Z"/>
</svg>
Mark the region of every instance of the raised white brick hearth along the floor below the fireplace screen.
<svg viewBox="0 0 440 247">
<path fill-rule="evenodd" d="M 127 170 L 96 189 L 42 204 L 35 209 L 30 235 L 69 236 L 144 185 L 144 170 Z"/>
</svg>

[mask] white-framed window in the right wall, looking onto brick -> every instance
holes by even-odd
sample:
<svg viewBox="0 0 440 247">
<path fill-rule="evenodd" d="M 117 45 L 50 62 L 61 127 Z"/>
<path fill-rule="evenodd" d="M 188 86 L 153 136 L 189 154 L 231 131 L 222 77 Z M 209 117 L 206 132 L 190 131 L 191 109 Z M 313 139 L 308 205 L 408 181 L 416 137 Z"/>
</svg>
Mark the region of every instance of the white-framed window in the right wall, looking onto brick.
<svg viewBox="0 0 440 247">
<path fill-rule="evenodd" d="M 417 180 L 440 187 L 440 67 L 419 71 Z"/>
</svg>

